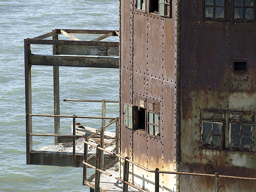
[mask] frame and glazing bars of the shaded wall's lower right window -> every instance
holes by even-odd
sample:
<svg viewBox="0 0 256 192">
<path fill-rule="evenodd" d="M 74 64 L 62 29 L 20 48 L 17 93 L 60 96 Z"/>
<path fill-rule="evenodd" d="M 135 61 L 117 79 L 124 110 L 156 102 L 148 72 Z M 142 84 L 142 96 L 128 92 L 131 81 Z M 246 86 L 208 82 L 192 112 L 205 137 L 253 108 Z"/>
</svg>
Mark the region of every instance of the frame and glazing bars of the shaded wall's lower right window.
<svg viewBox="0 0 256 192">
<path fill-rule="evenodd" d="M 231 146 L 231 131 L 232 125 L 240 125 L 240 147 L 232 147 Z M 251 126 L 251 137 L 243 137 L 242 136 L 242 125 L 250 125 Z M 233 137 L 238 137 L 238 136 L 233 136 Z M 251 148 L 241 148 L 242 146 L 242 138 L 251 138 Z M 244 123 L 244 122 L 229 122 L 229 149 L 230 150 L 235 150 L 235 151 L 254 151 L 254 124 L 253 123 Z"/>
</svg>

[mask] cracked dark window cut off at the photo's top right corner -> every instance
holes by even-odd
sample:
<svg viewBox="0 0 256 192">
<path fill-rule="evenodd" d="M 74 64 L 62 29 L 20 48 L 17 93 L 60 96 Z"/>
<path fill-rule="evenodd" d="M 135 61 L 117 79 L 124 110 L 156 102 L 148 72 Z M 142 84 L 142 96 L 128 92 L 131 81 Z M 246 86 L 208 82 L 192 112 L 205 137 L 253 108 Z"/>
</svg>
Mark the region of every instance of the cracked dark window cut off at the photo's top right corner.
<svg viewBox="0 0 256 192">
<path fill-rule="evenodd" d="M 234 0 L 234 20 L 254 20 L 254 0 Z"/>
</svg>

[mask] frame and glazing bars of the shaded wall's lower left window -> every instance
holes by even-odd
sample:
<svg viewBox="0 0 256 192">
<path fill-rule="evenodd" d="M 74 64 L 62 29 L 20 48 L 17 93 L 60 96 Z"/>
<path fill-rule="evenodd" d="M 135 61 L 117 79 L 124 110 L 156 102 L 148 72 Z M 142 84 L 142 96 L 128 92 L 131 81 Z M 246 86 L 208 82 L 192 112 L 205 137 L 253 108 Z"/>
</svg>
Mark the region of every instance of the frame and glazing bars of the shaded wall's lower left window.
<svg viewBox="0 0 256 192">
<path fill-rule="evenodd" d="M 208 148 L 208 149 L 224 149 L 224 122 L 219 122 L 219 121 L 209 121 L 209 120 L 200 120 L 201 121 L 201 140 L 200 140 L 200 147 L 201 148 Z M 205 134 L 203 133 L 203 123 L 212 123 L 212 128 L 211 128 L 211 134 Z M 214 134 L 213 133 L 213 123 L 217 124 L 222 124 L 221 127 L 221 134 Z M 203 135 L 211 135 L 211 145 L 203 145 Z M 213 136 L 218 136 L 220 138 L 220 146 L 218 145 L 213 145 Z"/>
</svg>

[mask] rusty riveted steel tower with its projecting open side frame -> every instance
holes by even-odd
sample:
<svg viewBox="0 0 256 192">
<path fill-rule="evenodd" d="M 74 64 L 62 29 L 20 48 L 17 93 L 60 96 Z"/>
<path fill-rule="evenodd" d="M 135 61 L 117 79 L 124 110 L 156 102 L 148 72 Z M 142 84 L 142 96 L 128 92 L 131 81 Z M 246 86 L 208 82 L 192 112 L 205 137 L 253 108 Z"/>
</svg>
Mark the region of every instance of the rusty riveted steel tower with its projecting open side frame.
<svg viewBox="0 0 256 192">
<path fill-rule="evenodd" d="M 118 32 L 55 30 L 25 39 L 27 163 L 33 154 L 31 65 L 119 67 L 117 152 L 95 145 L 119 158 L 118 180 L 140 191 L 255 191 L 255 20 L 255 0 L 119 0 Z M 85 42 L 70 34 L 89 32 L 103 36 Z M 57 34 L 73 41 L 58 40 Z M 100 42 L 112 35 L 119 36 L 119 44 Z M 42 39 L 50 36 L 54 40 Z M 30 44 L 53 44 L 53 55 L 32 55 Z M 92 47 L 96 55 L 114 52 L 119 61 L 56 59 Z M 52 136 L 57 138 L 54 71 Z M 95 166 L 89 165 L 87 151 L 80 161 L 83 184 L 91 188 L 100 182 L 100 172 L 106 174 L 98 156 Z M 95 186 L 87 180 L 87 166 L 96 170 Z"/>
</svg>

